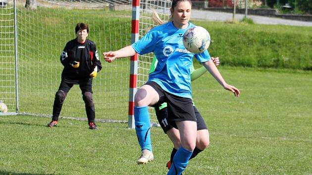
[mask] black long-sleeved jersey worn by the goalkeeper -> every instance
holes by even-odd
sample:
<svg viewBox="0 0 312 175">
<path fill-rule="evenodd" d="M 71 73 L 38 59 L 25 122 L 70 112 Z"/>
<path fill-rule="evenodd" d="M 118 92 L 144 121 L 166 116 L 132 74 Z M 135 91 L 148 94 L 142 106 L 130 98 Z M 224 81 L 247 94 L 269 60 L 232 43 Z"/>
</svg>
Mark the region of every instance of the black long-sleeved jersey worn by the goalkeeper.
<svg viewBox="0 0 312 175">
<path fill-rule="evenodd" d="M 95 66 L 98 66 L 98 72 L 102 69 L 98 50 L 90 40 L 86 40 L 84 44 L 78 43 L 76 39 L 69 41 L 60 56 L 60 61 L 64 66 L 62 80 L 73 84 L 92 81 L 90 74 Z M 72 67 L 70 65 L 72 61 L 79 61 L 79 67 Z"/>
</svg>

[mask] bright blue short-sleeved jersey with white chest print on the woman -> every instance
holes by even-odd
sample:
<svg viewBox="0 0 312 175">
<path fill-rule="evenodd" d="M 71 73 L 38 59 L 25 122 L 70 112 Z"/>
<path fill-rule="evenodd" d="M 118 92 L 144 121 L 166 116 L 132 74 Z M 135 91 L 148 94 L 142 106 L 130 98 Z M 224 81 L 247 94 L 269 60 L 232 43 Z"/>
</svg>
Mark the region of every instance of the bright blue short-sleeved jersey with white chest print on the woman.
<svg viewBox="0 0 312 175">
<path fill-rule="evenodd" d="M 163 90 L 177 96 L 191 98 L 190 67 L 195 56 L 200 62 L 210 60 L 206 50 L 200 54 L 189 52 L 183 45 L 186 29 L 177 29 L 172 22 L 153 28 L 141 40 L 132 44 L 134 50 L 143 55 L 154 52 L 157 58 L 155 71 L 150 73 L 148 82 L 157 83 Z"/>
</svg>

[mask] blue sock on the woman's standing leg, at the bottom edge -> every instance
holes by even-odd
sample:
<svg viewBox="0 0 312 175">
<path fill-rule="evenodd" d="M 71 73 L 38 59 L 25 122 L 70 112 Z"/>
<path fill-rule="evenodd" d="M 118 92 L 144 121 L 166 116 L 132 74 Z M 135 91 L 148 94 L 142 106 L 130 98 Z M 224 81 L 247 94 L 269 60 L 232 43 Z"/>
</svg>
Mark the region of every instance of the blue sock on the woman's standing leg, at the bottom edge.
<svg viewBox="0 0 312 175">
<path fill-rule="evenodd" d="M 173 157 L 173 162 L 167 175 L 181 175 L 189 163 L 192 153 L 193 151 L 186 150 L 180 146 Z"/>
</svg>

